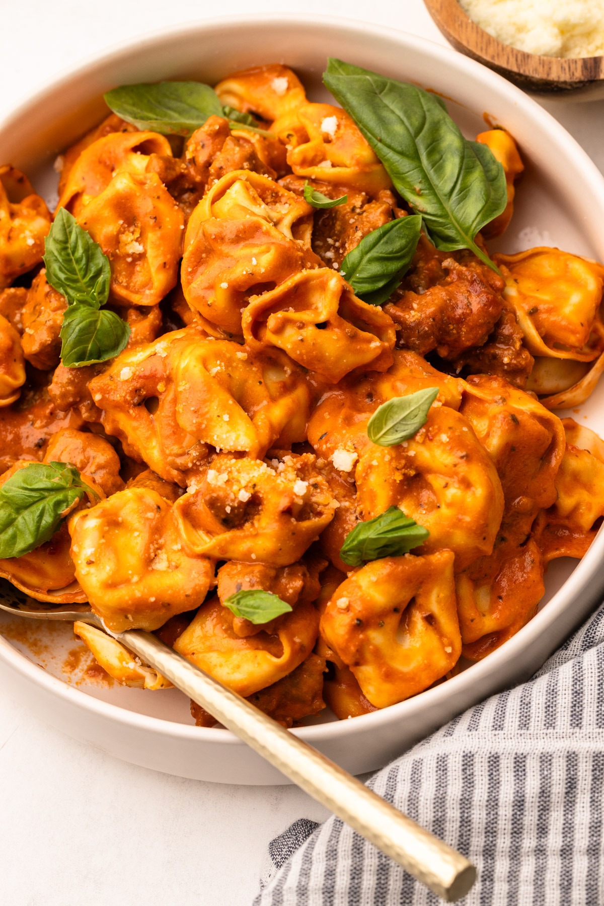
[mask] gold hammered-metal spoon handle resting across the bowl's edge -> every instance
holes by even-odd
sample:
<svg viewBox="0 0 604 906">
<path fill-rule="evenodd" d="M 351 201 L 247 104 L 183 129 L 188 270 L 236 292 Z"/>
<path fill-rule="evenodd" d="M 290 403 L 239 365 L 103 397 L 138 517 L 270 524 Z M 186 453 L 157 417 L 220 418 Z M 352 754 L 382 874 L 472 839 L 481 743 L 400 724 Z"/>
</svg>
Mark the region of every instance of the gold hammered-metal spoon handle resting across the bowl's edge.
<svg viewBox="0 0 604 906">
<path fill-rule="evenodd" d="M 115 638 L 437 896 L 454 902 L 470 890 L 476 874 L 472 863 L 321 752 L 149 632 L 129 630 Z"/>
</svg>

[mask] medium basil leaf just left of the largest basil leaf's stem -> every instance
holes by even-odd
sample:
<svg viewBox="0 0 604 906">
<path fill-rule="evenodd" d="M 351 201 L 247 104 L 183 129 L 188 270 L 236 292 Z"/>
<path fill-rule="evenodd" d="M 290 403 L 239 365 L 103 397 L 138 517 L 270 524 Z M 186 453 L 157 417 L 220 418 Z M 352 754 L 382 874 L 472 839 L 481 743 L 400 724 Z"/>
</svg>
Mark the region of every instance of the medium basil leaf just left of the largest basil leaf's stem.
<svg viewBox="0 0 604 906">
<path fill-rule="evenodd" d="M 381 305 L 394 293 L 416 254 L 422 218 L 398 217 L 363 236 L 340 274 L 364 302 Z"/>
</svg>

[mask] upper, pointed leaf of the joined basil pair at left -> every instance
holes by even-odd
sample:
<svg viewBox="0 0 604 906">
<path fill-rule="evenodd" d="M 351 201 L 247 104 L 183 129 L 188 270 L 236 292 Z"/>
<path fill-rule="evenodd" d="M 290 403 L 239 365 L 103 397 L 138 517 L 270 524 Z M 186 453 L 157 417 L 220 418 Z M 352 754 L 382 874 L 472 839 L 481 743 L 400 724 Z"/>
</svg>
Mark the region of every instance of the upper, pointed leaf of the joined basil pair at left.
<svg viewBox="0 0 604 906">
<path fill-rule="evenodd" d="M 64 207 L 54 218 L 44 245 L 46 280 L 68 305 L 99 308 L 107 302 L 111 271 L 101 246 Z"/>
</svg>

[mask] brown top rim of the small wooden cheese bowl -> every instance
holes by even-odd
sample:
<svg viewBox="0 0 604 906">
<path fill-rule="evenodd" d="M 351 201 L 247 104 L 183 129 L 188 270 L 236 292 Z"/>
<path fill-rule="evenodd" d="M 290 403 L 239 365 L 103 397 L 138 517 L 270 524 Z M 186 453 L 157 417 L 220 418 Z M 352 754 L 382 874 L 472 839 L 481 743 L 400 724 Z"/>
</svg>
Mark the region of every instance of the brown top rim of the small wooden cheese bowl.
<svg viewBox="0 0 604 906">
<path fill-rule="evenodd" d="M 540 82 L 585 84 L 604 81 L 604 55 L 593 57 L 550 57 L 519 51 L 494 38 L 465 12 L 459 0 L 424 0 L 438 28 L 459 50 L 479 61 L 492 63 L 503 72 Z M 447 15 L 449 14 L 449 15 Z M 463 28 L 458 28 L 462 24 Z M 462 40 L 463 34 L 463 40 Z"/>
</svg>

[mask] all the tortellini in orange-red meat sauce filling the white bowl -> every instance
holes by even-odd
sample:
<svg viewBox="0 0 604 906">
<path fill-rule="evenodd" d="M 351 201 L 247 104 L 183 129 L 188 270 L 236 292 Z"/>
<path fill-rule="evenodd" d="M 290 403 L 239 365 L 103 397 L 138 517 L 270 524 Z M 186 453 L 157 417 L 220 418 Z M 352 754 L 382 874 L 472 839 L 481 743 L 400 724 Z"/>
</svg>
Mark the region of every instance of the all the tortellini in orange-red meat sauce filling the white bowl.
<svg viewBox="0 0 604 906">
<path fill-rule="evenodd" d="M 112 112 L 63 153 L 54 215 L 0 166 L 0 496 L 33 464 L 86 488 L 0 576 L 90 602 L 111 631 L 157 632 L 284 726 L 326 704 L 355 717 L 494 651 L 551 560 L 588 550 L 604 441 L 556 410 L 604 371 L 604 266 L 486 257 L 523 171 L 489 130 L 506 197 L 481 255 L 423 229 L 376 300 L 350 256 L 414 209 L 352 116 L 283 64 L 215 91 L 225 115 L 184 137 Z M 63 209 L 101 255 L 88 316 L 128 325 L 117 354 L 74 366 L 73 299 L 48 256 Z M 430 392 L 423 422 L 379 439 L 385 407 Z M 386 517 L 423 534 L 393 554 L 371 528 Z M 170 685 L 74 629 L 121 683 Z"/>
</svg>

